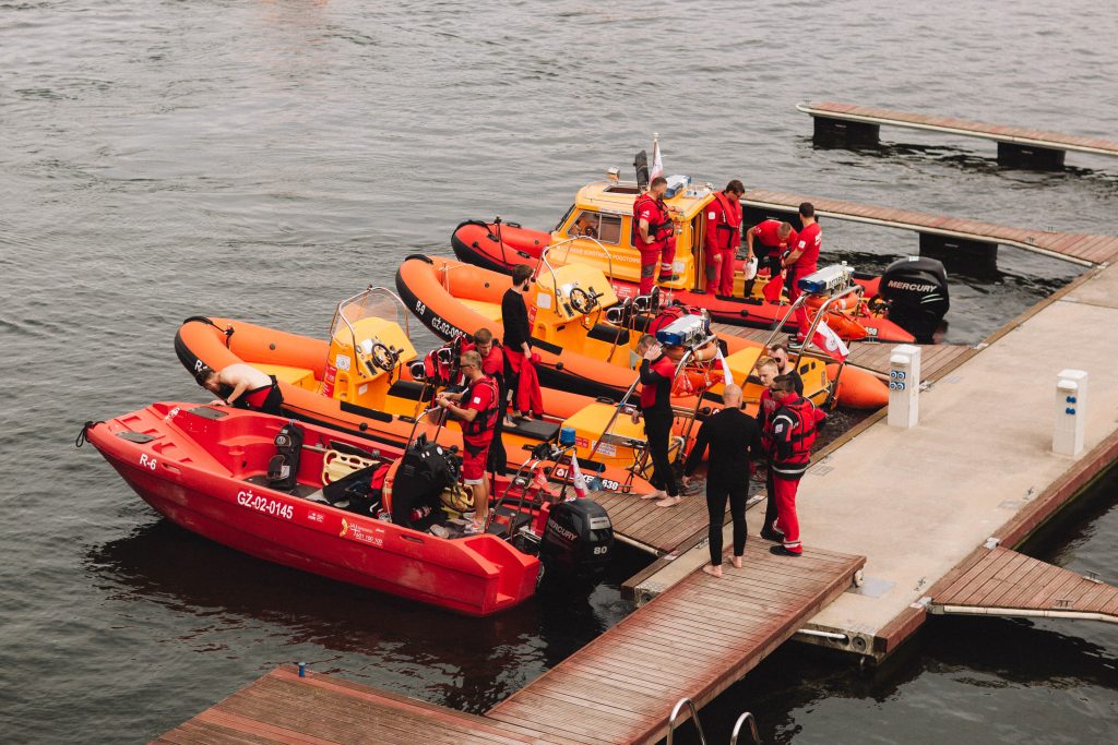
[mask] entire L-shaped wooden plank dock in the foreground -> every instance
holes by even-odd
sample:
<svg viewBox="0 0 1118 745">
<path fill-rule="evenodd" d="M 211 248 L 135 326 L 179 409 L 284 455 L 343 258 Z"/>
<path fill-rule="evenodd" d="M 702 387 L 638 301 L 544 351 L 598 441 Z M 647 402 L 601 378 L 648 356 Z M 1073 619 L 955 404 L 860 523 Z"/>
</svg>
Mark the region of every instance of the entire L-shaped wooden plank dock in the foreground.
<svg viewBox="0 0 1118 745">
<path fill-rule="evenodd" d="M 703 706 L 851 586 L 864 560 L 750 542 L 742 570 L 695 572 L 484 716 L 294 668 L 274 670 L 155 742 L 654 743 L 683 696 Z M 682 720 L 681 720 L 682 722 Z"/>
</svg>

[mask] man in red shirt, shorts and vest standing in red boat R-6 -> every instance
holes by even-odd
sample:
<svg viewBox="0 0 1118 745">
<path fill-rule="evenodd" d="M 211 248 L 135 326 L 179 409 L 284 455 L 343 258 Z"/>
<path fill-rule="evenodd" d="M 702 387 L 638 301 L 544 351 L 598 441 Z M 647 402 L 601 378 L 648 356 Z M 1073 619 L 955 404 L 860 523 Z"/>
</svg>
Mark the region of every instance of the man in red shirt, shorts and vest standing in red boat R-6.
<svg viewBox="0 0 1118 745">
<path fill-rule="evenodd" d="M 489 484 L 485 480 L 485 460 L 493 440 L 493 424 L 500 416 L 496 382 L 482 372 L 482 356 L 474 351 L 463 352 L 458 369 L 466 376 L 466 390 L 459 393 L 439 393 L 435 403 L 462 420 L 462 483 L 470 487 L 474 498 L 473 522 L 467 533 L 481 533 L 489 518 Z M 463 401 L 466 405 L 459 405 Z"/>
</svg>

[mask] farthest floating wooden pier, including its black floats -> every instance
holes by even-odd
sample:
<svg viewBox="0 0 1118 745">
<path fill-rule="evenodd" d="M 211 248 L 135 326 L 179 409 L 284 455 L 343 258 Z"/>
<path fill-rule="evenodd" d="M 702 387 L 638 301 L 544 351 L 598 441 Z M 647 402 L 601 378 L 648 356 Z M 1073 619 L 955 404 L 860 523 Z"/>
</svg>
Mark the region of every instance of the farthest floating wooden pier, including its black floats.
<svg viewBox="0 0 1118 745">
<path fill-rule="evenodd" d="M 875 145 L 882 126 L 897 126 L 993 140 L 997 143 L 998 162 L 1013 168 L 1061 169 L 1067 151 L 1118 155 L 1118 142 L 1100 137 L 833 102 L 797 104 L 796 108 L 812 116 L 815 142 L 822 146 Z"/>
</svg>

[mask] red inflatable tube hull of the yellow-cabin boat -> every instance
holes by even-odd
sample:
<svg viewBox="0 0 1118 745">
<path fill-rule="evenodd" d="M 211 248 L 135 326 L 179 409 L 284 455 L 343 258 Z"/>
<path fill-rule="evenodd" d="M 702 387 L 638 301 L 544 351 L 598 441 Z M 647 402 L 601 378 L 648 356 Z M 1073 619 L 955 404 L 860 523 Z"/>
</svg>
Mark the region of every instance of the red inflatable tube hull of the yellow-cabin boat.
<svg viewBox="0 0 1118 745">
<path fill-rule="evenodd" d="M 451 245 L 458 259 L 502 274 L 511 273 L 512 267 L 518 264 L 534 267 L 540 254 L 550 242 L 550 233 L 509 225 L 501 226 L 500 239 L 498 239 L 495 226 L 477 220 L 461 223 L 451 237 Z M 743 262 L 739 260 L 737 264 L 740 269 L 740 265 Z M 878 294 L 880 279 L 880 277 L 873 277 L 856 281 L 865 287 L 865 297 L 870 298 Z M 612 278 L 610 284 L 619 298 L 633 297 L 638 290 L 637 283 L 625 279 Z M 787 306 L 771 303 L 746 303 L 740 298 L 720 299 L 713 295 L 692 290 L 674 289 L 672 297 L 688 305 L 707 308 L 711 318 L 717 322 L 755 328 L 771 328 L 773 324 L 784 317 L 787 312 Z M 859 315 L 856 324 L 850 323 L 849 328 L 842 328 L 841 321 L 836 323 L 828 318 L 827 323 L 846 340 L 871 338 L 906 344 L 916 340 L 912 334 L 896 323 L 874 315 Z M 789 319 L 783 331 L 795 333 L 796 328 L 795 321 Z"/>
</svg>

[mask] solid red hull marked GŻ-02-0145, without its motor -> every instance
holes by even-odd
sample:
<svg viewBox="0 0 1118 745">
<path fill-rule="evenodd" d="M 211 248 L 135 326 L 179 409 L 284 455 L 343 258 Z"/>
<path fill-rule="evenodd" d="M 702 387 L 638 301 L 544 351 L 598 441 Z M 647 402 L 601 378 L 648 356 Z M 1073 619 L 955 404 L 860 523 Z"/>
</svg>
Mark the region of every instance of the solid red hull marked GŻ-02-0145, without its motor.
<svg viewBox="0 0 1118 745">
<path fill-rule="evenodd" d="M 215 420 L 191 405 L 157 403 L 86 433 L 136 494 L 177 525 L 266 561 L 467 615 L 496 613 L 533 594 L 539 561 L 494 535 L 439 538 L 247 483 L 274 452 L 284 420 L 225 409 Z M 304 429 L 307 442 L 345 440 Z M 119 437 L 126 432 L 157 437 Z M 386 458 L 399 455 L 381 449 Z M 313 459 L 301 464 L 300 481 L 313 481 L 314 468 Z"/>
</svg>

